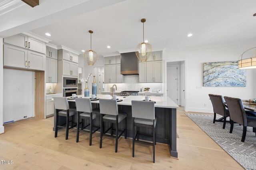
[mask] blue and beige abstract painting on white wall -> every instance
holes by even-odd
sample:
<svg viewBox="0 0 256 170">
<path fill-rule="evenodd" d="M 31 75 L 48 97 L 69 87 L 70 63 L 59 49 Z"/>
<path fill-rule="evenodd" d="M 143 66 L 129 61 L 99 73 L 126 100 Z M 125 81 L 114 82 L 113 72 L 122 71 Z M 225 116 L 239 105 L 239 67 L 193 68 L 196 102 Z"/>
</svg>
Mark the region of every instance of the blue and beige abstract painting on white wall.
<svg viewBox="0 0 256 170">
<path fill-rule="evenodd" d="M 204 63 L 203 81 L 205 87 L 245 87 L 246 70 L 237 61 Z"/>
</svg>

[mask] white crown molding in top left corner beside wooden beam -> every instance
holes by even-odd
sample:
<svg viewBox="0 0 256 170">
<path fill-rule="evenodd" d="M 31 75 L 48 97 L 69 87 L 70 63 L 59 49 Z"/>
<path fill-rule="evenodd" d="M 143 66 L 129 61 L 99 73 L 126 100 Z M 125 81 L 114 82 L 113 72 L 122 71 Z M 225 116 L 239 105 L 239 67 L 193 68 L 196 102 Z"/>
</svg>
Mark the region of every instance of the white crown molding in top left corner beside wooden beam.
<svg viewBox="0 0 256 170">
<path fill-rule="evenodd" d="M 4 0 L 3 2 L 0 2 L 0 16 L 6 14 L 7 12 L 15 10 L 16 8 L 24 4 L 25 3 L 21 0 Z"/>
</svg>

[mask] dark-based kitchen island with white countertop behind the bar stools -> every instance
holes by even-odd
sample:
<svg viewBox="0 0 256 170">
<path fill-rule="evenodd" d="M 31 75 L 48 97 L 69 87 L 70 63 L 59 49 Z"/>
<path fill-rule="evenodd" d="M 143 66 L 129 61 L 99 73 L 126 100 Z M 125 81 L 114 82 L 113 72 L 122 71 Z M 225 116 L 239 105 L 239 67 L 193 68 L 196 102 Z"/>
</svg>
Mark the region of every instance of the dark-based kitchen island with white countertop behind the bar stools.
<svg viewBox="0 0 256 170">
<path fill-rule="evenodd" d="M 84 97 L 84 95 L 79 95 L 78 97 Z M 107 95 L 97 94 L 97 98 L 111 99 Z M 157 117 L 156 122 L 156 142 L 166 143 L 169 145 L 170 156 L 178 158 L 178 152 L 176 148 L 176 109 L 179 108 L 169 97 L 162 96 L 150 96 L 151 100 L 155 101 L 155 115 Z M 118 96 L 118 99 L 123 101 L 118 102 L 118 110 L 127 113 L 127 137 L 132 137 L 132 100 L 144 100 L 144 96 Z M 75 100 L 68 100 L 70 106 L 75 106 Z M 99 100 L 92 101 L 92 106 L 94 109 L 99 109 Z M 55 115 L 55 114 L 54 114 Z M 54 116 L 54 120 L 56 116 Z M 76 119 L 76 117 L 74 117 Z M 61 121 L 61 118 L 59 119 Z M 55 122 L 55 121 L 54 121 Z M 95 126 L 100 126 L 100 119 L 95 119 Z M 108 129 L 111 125 L 104 124 L 104 129 Z M 120 130 L 124 128 L 124 124 L 120 123 Z M 55 127 L 55 125 L 54 125 Z M 54 128 L 55 129 L 55 128 Z M 152 130 L 148 128 L 139 129 L 140 134 L 152 135 Z M 140 137 L 142 140 L 152 141 L 151 138 Z"/>
</svg>

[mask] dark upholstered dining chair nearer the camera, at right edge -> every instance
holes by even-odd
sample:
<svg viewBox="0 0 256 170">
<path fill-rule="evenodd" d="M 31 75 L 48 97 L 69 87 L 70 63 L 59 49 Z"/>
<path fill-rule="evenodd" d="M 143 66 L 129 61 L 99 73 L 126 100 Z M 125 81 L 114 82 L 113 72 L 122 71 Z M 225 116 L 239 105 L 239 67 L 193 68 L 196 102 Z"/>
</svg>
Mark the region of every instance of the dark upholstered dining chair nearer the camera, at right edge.
<svg viewBox="0 0 256 170">
<path fill-rule="evenodd" d="M 246 116 L 244 105 L 241 99 L 224 96 L 226 104 L 228 105 L 230 113 L 230 132 L 232 133 L 234 127 L 234 121 L 243 125 L 243 134 L 241 141 L 244 142 L 246 137 L 247 127 L 253 127 L 254 131 L 256 128 L 256 117 Z"/>
</svg>

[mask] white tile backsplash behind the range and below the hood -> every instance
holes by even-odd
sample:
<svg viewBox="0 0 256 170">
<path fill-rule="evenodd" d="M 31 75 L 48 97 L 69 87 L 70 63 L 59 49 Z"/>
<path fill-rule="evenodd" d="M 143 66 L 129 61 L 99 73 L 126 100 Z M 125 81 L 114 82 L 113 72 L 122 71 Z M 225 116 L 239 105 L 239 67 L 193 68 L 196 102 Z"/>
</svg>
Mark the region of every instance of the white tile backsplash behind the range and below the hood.
<svg viewBox="0 0 256 170">
<path fill-rule="evenodd" d="M 136 90 L 140 91 L 142 87 L 149 87 L 150 89 L 156 91 L 157 89 L 162 90 L 163 83 L 139 83 L 139 75 L 127 75 L 124 76 L 124 83 L 106 83 L 104 91 L 110 91 L 110 87 L 116 84 L 117 91 L 124 90 Z"/>
</svg>

